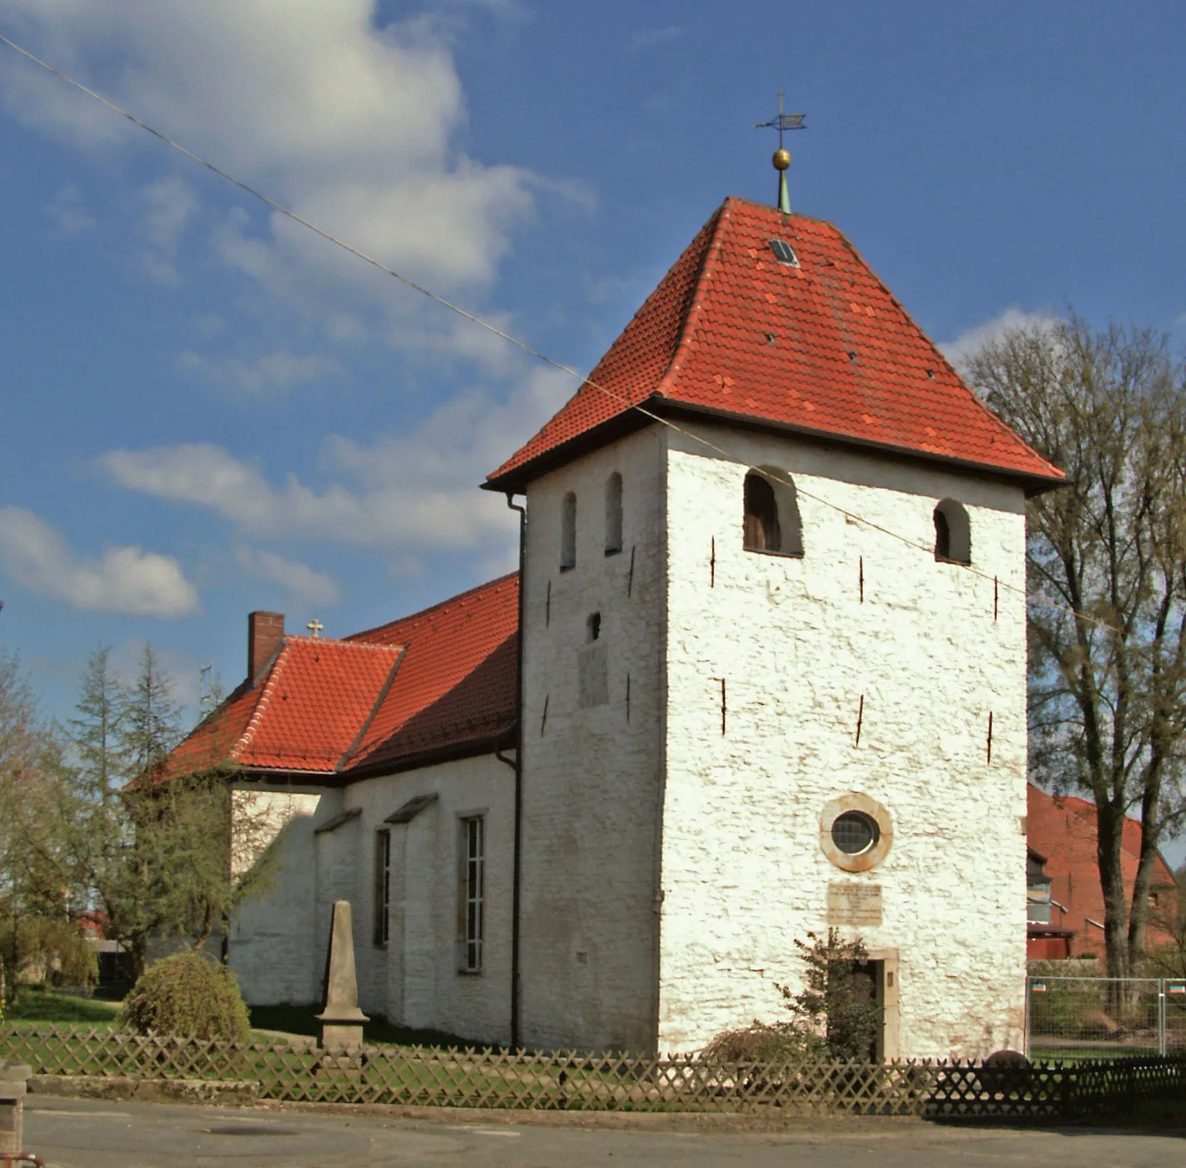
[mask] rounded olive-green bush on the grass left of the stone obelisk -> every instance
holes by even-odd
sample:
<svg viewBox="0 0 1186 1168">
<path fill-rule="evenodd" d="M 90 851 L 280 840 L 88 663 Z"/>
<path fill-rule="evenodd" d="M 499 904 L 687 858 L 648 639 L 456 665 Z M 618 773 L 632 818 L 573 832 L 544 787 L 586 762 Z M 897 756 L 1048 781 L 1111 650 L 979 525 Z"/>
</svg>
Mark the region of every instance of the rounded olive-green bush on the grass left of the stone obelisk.
<svg viewBox="0 0 1186 1168">
<path fill-rule="evenodd" d="M 200 953 L 152 965 L 123 999 L 123 1024 L 140 1034 L 243 1042 L 250 1023 L 235 975 Z"/>
</svg>

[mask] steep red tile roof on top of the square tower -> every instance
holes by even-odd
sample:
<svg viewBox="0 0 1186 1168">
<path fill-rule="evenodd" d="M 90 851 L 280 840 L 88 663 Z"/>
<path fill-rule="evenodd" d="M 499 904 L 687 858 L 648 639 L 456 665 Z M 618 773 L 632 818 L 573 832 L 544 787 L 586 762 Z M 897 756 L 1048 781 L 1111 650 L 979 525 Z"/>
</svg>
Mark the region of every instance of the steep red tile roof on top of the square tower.
<svg viewBox="0 0 1186 1168">
<path fill-rule="evenodd" d="M 772 239 L 793 247 L 798 267 L 776 260 Z M 589 381 L 612 395 L 585 382 L 487 487 L 521 488 L 644 402 L 954 461 L 1033 487 L 1064 477 L 981 404 L 840 230 L 744 199 L 726 199 L 704 224 Z"/>
</svg>

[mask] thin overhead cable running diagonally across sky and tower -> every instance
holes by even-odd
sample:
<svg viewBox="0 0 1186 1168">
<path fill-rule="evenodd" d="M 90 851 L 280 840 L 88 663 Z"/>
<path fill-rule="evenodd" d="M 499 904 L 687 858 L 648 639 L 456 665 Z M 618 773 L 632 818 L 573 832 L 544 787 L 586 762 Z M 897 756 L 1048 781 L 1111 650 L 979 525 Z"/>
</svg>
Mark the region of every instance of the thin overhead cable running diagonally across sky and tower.
<svg viewBox="0 0 1186 1168">
<path fill-rule="evenodd" d="M 610 389 L 607 386 L 599 385 L 598 382 L 579 373 L 572 366 L 563 364 L 560 361 L 554 361 L 547 354 L 541 353 L 538 349 L 534 349 L 525 341 L 519 341 L 518 337 L 515 337 L 511 334 L 503 331 L 497 325 L 491 324 L 489 320 L 484 320 L 482 317 L 474 316 L 472 312 L 467 312 L 460 305 L 454 304 L 452 300 L 447 300 L 445 297 L 439 296 L 431 288 L 426 288 L 422 284 L 417 284 L 415 280 L 409 279 L 401 272 L 397 272 L 395 268 L 383 264 L 382 260 L 375 259 L 375 256 L 369 255 L 366 252 L 363 252 L 362 249 L 355 247 L 351 243 L 347 243 L 345 240 L 339 239 L 331 231 L 327 231 L 324 228 L 318 227 L 315 223 L 311 222 L 304 216 L 298 215 L 294 210 L 285 207 L 282 203 L 278 203 L 274 198 L 270 198 L 268 195 L 264 195 L 257 188 L 251 186 L 250 183 L 246 183 L 243 182 L 243 179 L 236 178 L 234 174 L 229 173 L 228 171 L 224 171 L 221 166 L 216 166 L 209 159 L 205 159 L 200 154 L 195 153 L 192 150 L 189 150 L 187 147 L 183 146 L 180 142 L 170 138 L 167 134 L 161 133 L 159 129 L 155 129 L 154 127 L 149 126 L 147 122 L 141 121 L 139 118 L 135 116 L 135 114 L 129 113 L 122 106 L 117 106 L 115 102 L 109 101 L 102 94 L 98 94 L 88 85 L 84 85 L 81 81 L 76 81 L 69 74 L 65 74 L 60 69 L 55 68 L 49 62 L 43 61 L 40 57 L 30 52 L 27 49 L 23 49 L 20 45 L 18 45 L 13 40 L 9 40 L 4 34 L 0 34 L 0 44 L 7 45 L 9 49 L 20 53 L 20 56 L 31 61 L 33 64 L 40 66 L 46 72 L 50 72 L 55 77 L 60 78 L 68 85 L 72 85 L 75 89 L 78 89 L 82 93 L 84 93 L 88 97 L 93 97 L 95 101 L 100 102 L 100 104 L 106 106 L 113 113 L 119 114 L 121 118 L 127 119 L 134 126 L 139 126 L 141 129 L 147 131 L 147 133 L 152 134 L 153 138 L 159 139 L 166 146 L 172 147 L 180 154 L 184 154 L 191 161 L 197 163 L 199 166 L 205 167 L 208 171 L 211 171 L 212 173 L 217 174 L 219 178 L 224 179 L 231 185 L 237 186 L 241 191 L 244 191 L 253 198 L 259 199 L 266 207 L 272 208 L 272 210 L 274 210 L 276 214 L 291 218 L 294 223 L 299 223 L 301 227 L 312 231 L 314 235 L 321 236 L 323 240 L 326 240 L 334 247 L 340 247 L 344 252 L 349 252 L 351 255 L 362 260 L 364 264 L 369 264 L 371 267 L 377 268 L 385 275 L 390 275 L 393 279 L 398 280 L 406 287 L 412 288 L 414 292 L 419 292 L 421 296 L 427 297 L 429 300 L 434 300 L 442 307 L 448 309 L 449 312 L 455 312 L 458 316 L 464 317 L 472 324 L 478 325 L 478 328 L 485 329 L 487 332 L 493 334 L 496 337 L 499 337 L 508 344 L 512 344 L 516 348 L 522 349 L 524 353 L 529 354 L 530 356 L 535 357 L 538 361 L 542 361 L 544 364 L 550 366 L 553 369 L 557 369 L 559 372 L 567 374 L 570 377 L 575 377 L 581 385 L 586 385 L 591 389 L 595 389 L 598 393 L 601 393 L 605 396 L 611 398 L 614 401 L 618 401 L 624 408 L 633 410 L 637 413 L 642 414 L 644 418 L 649 418 L 651 421 L 658 423 L 662 426 L 667 426 L 669 430 L 682 434 L 683 437 L 690 439 L 691 442 L 697 443 L 701 446 L 704 446 L 708 450 L 712 450 L 714 453 L 720 455 L 721 457 L 728 459 L 729 462 L 739 463 L 740 465 L 745 466 L 746 470 L 755 471 L 764 478 L 772 480 L 773 482 L 780 483 L 784 487 L 790 487 L 792 490 L 802 495 L 804 499 L 810 499 L 814 502 L 817 502 L 824 507 L 829 507 L 833 510 L 839 512 L 846 519 L 850 519 L 853 522 L 862 523 L 863 526 L 872 528 L 873 531 L 880 532 L 882 535 L 888 535 L 891 539 L 895 539 L 899 542 L 905 544 L 907 547 L 912 547 L 916 551 L 924 552 L 927 556 L 933 554 L 932 547 L 929 547 L 925 544 L 920 544 L 917 540 L 911 539 L 908 535 L 903 535 L 899 532 L 891 531 L 888 527 L 885 527 L 872 519 L 866 519 L 863 515 L 859 515 L 846 507 L 841 507 L 839 503 L 834 503 L 831 500 L 823 499 L 820 495 L 815 495 L 811 491 L 804 490 L 799 484 L 791 482 L 790 477 L 783 478 L 771 470 L 755 466 L 752 463 L 748 463 L 745 458 L 735 455 L 727 447 L 721 446 L 718 443 L 713 442 L 710 438 L 706 438 L 703 434 L 696 433 L 695 431 L 687 430 L 686 427 L 678 425 L 677 423 L 671 421 L 670 418 L 664 418 L 661 414 L 657 414 L 653 411 L 648 410 L 643 405 L 630 401 L 627 398 L 624 398 L 616 391 Z M 1077 620 L 1086 621 L 1101 628 L 1107 628 L 1107 629 L 1112 629 L 1114 631 L 1118 631 L 1116 630 L 1115 626 L 1110 624 L 1108 621 L 1102 621 L 1098 617 L 1089 616 L 1086 612 L 1076 611 L 1072 608 L 1069 608 L 1064 604 L 1058 604 L 1054 601 L 1048 601 L 1045 597 L 1034 596 L 1024 585 L 1010 584 L 1008 580 L 1002 580 L 996 576 L 990 576 L 988 572 L 983 572 L 980 569 L 973 566 L 971 564 L 959 564 L 957 566 L 962 567 L 965 572 L 970 572 L 973 576 L 978 576 L 981 579 L 990 580 L 995 588 L 1003 588 L 1010 592 L 1018 592 L 1025 596 L 1026 599 L 1028 601 L 1033 601 L 1034 603 L 1042 604 L 1057 611 L 1066 612 L 1067 615 L 1073 616 Z"/>
</svg>

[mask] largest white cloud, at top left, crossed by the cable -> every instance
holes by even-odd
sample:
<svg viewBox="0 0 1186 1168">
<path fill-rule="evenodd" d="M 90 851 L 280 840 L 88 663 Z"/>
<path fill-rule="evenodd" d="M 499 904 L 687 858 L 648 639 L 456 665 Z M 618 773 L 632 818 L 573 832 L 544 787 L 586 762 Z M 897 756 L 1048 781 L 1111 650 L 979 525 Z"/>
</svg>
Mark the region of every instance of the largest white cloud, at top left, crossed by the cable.
<svg viewBox="0 0 1186 1168">
<path fill-rule="evenodd" d="M 446 38 L 431 18 L 378 26 L 376 7 L 0 0 L 18 39 L 300 215 L 435 286 L 489 283 L 533 205 L 535 176 L 455 147 L 466 113 Z M 85 148 L 134 140 L 121 119 L 32 65 L 12 62 L 0 84 L 19 118 Z M 149 229 L 162 236 L 192 214 L 176 182 L 149 192 L 159 201 Z M 229 224 L 222 252 L 273 287 L 306 287 L 315 269 L 374 294 L 362 265 L 279 216 L 263 234 Z"/>
</svg>

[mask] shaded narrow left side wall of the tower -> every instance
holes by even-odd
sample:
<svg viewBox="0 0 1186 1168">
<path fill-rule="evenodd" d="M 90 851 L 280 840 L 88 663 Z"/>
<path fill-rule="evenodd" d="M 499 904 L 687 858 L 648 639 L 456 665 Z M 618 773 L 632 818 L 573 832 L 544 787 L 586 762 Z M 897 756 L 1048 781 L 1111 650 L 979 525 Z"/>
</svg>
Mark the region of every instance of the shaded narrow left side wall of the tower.
<svg viewBox="0 0 1186 1168">
<path fill-rule="evenodd" d="M 607 557 L 613 471 L 623 477 L 623 550 Z M 569 490 L 578 497 L 576 566 L 561 572 Z M 652 427 L 624 438 L 542 476 L 527 494 L 521 1040 L 644 1050 L 653 1047 L 657 1010 L 662 436 Z M 601 614 L 608 700 L 582 709 L 579 661 L 591 612 Z"/>
</svg>

